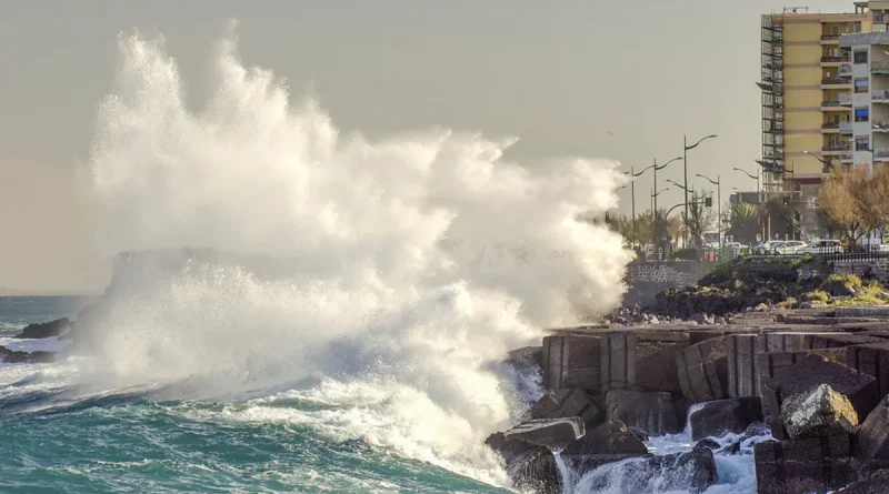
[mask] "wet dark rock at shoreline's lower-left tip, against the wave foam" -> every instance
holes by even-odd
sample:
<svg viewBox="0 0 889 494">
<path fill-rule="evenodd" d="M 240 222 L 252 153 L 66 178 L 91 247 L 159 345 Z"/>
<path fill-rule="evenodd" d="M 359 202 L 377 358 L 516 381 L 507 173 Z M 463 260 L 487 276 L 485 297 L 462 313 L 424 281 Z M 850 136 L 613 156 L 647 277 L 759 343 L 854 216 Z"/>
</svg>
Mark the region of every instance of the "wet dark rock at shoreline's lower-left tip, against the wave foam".
<svg viewBox="0 0 889 494">
<path fill-rule="evenodd" d="M 537 494 L 561 494 L 561 474 L 549 448 L 507 438 L 500 432 L 491 434 L 485 444 L 503 458 L 507 475 L 516 488 Z"/>
</svg>

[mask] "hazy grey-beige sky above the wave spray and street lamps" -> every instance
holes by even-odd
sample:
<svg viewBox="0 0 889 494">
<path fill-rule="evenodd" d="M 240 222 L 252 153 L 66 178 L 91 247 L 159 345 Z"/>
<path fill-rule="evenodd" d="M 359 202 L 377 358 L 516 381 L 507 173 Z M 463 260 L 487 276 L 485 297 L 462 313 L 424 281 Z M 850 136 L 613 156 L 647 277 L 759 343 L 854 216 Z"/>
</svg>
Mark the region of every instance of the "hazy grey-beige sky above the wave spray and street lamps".
<svg viewBox="0 0 889 494">
<path fill-rule="evenodd" d="M 718 133 L 689 174 L 760 155 L 759 16 L 766 0 L 4 0 L 0 16 L 0 286 L 99 289 L 73 179 L 111 89 L 117 36 L 162 33 L 192 101 L 229 19 L 239 53 L 317 93 L 344 130 L 374 137 L 443 125 L 516 135 L 510 158 L 586 155 L 629 170 Z M 811 11 L 850 11 L 820 0 Z M 673 165 L 671 165 L 673 167 Z M 659 174 L 681 180 L 681 165 Z M 730 183 L 731 182 L 731 183 Z M 703 186 L 700 181 L 693 182 Z M 638 182 L 648 206 L 651 177 Z M 620 191 L 629 211 L 629 190 Z M 661 204 L 681 201 L 679 192 Z"/>
</svg>

